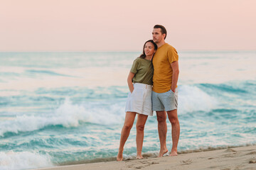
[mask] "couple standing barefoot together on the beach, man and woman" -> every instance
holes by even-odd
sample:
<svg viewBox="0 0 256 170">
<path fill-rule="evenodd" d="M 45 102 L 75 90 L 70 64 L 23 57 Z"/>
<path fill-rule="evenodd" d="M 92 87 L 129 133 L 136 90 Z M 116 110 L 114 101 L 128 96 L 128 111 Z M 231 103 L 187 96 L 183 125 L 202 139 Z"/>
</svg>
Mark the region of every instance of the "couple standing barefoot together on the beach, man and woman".
<svg viewBox="0 0 256 170">
<path fill-rule="evenodd" d="M 180 125 L 178 122 L 178 54 L 165 42 L 166 28 L 154 26 L 153 40 L 144 44 L 143 54 L 134 60 L 127 79 L 129 95 L 125 108 L 124 126 L 121 132 L 117 161 L 122 161 L 124 144 L 129 137 L 136 115 L 137 159 L 142 159 L 144 125 L 148 115 L 156 111 L 160 140 L 159 157 L 168 152 L 166 147 L 166 113 L 171 122 L 172 149 L 170 156 L 177 155 Z M 153 58 L 154 57 L 154 58 Z"/>
</svg>

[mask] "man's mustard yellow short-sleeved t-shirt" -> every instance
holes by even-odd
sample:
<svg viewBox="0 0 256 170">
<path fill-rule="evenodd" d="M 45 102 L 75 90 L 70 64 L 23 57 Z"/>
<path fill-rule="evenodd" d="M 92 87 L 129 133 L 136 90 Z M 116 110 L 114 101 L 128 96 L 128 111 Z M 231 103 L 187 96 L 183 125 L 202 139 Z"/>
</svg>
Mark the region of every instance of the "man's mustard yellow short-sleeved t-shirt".
<svg viewBox="0 0 256 170">
<path fill-rule="evenodd" d="M 153 91 L 165 93 L 171 89 L 173 70 L 171 63 L 178 61 L 178 53 L 174 47 L 165 43 L 156 50 L 153 57 Z"/>
</svg>

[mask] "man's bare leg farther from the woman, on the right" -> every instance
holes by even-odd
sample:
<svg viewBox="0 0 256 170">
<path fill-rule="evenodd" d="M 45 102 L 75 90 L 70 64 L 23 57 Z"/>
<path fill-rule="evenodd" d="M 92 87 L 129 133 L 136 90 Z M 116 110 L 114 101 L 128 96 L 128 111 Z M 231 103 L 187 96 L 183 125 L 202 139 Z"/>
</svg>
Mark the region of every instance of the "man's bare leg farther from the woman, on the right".
<svg viewBox="0 0 256 170">
<path fill-rule="evenodd" d="M 178 155 L 178 139 L 180 135 L 180 125 L 178 122 L 177 109 L 174 111 L 167 111 L 168 118 L 171 122 L 171 137 L 173 142 L 173 147 L 171 148 L 170 156 Z"/>
</svg>

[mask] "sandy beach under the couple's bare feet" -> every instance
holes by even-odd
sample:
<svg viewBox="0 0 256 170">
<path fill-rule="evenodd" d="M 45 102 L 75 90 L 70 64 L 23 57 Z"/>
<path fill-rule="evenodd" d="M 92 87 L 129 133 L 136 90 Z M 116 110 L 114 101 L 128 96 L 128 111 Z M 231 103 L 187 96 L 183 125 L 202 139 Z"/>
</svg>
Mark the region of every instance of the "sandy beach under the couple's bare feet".
<svg viewBox="0 0 256 170">
<path fill-rule="evenodd" d="M 98 162 L 48 169 L 256 169 L 256 146 L 178 154 L 177 157 L 127 159 L 123 162 Z"/>
</svg>

